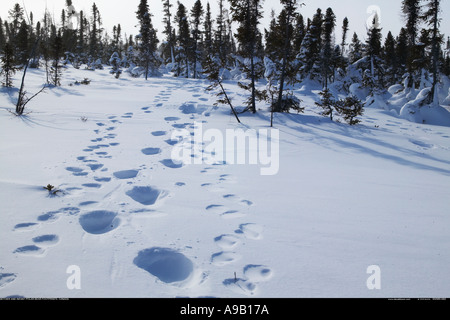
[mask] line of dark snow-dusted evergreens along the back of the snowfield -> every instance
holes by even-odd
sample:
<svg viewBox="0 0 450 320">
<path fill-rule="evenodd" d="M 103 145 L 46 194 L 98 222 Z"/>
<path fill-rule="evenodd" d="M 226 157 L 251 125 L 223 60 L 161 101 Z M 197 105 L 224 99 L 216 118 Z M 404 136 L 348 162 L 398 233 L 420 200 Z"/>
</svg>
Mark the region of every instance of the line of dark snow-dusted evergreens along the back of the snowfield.
<svg viewBox="0 0 450 320">
<path fill-rule="evenodd" d="M 402 83 L 411 90 L 432 87 L 433 95 L 439 77 L 450 74 L 450 40 L 445 48 L 439 30 L 440 0 L 403 0 L 405 27 L 396 37 L 390 31 L 383 37 L 375 15 L 364 41 L 350 32 L 347 18 L 336 21 L 332 8 L 307 18 L 297 0 L 280 0 L 282 10 L 270 13 L 266 29 L 260 26 L 263 0 L 214 0 L 216 13 L 201 0 L 192 8 L 161 1 L 162 39 L 147 0 L 136 8 L 135 36 L 123 34 L 120 24 L 105 30 L 95 3 L 90 12 L 75 12 L 66 0 L 60 17 L 45 12 L 39 21 L 16 4 L 7 21 L 0 19 L 3 85 L 11 86 L 11 74 L 26 64 L 45 67 L 54 85 L 67 64 L 92 70 L 108 65 L 116 77 L 167 71 L 176 77 L 239 79 L 249 91 L 248 110 L 256 112 L 262 99 L 269 99 L 274 111 L 295 106 L 290 90 L 306 79 L 320 82 L 325 93 L 331 84 L 349 92 L 351 84 L 360 83 L 373 94 Z M 267 80 L 264 90 L 257 85 L 260 79 Z"/>
</svg>

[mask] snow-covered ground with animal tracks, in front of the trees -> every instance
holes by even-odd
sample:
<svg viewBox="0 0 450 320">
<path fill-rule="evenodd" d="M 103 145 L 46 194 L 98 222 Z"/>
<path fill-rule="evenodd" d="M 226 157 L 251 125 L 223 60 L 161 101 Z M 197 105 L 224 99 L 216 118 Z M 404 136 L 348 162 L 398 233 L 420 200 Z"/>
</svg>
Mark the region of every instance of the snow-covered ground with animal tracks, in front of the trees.
<svg viewBox="0 0 450 320">
<path fill-rule="evenodd" d="M 270 133 L 266 109 L 239 125 L 206 87 L 69 68 L 23 117 L 1 89 L 0 297 L 450 295 L 450 127 L 376 107 L 330 122 L 303 86 L 306 112 L 275 115 L 276 174 L 177 165 L 177 130 Z"/>
</svg>

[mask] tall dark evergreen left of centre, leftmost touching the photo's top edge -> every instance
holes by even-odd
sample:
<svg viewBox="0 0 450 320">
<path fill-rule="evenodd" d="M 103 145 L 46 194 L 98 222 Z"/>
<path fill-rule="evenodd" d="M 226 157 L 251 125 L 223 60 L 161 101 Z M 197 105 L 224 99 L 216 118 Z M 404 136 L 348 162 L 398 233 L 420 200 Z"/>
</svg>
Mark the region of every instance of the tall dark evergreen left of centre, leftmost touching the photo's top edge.
<svg viewBox="0 0 450 320">
<path fill-rule="evenodd" d="M 149 74 L 154 73 L 159 67 L 159 59 L 156 53 L 158 39 L 156 30 L 153 28 L 147 0 L 141 0 L 136 15 L 140 25 L 139 36 L 136 37 L 139 60 L 141 67 L 144 68 L 145 80 L 147 80 Z"/>
</svg>

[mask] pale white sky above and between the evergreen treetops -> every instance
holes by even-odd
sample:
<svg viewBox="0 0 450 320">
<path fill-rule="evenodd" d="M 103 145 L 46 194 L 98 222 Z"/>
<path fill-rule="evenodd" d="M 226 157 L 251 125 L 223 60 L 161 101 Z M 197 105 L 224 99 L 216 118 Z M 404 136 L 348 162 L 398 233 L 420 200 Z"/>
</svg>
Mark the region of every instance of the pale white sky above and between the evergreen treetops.
<svg viewBox="0 0 450 320">
<path fill-rule="evenodd" d="M 201 0 L 203 7 L 206 8 L 206 3 L 209 2 L 213 12 L 213 18 L 216 17 L 217 1 L 218 0 Z M 83 10 L 91 15 L 92 4 L 95 2 L 99 8 L 100 15 L 103 19 L 103 27 L 112 33 L 112 27 L 120 23 L 123 34 L 137 34 L 136 27 L 136 10 L 140 0 L 72 0 L 73 5 L 77 11 Z M 176 0 L 171 1 L 174 6 L 172 13 L 174 14 L 177 7 Z M 180 0 L 189 10 L 192 8 L 195 0 Z M 351 39 L 353 32 L 357 32 L 360 39 L 366 36 L 366 23 L 371 20 L 374 11 L 378 11 L 381 16 L 381 27 L 383 28 L 383 37 L 386 37 L 388 31 L 392 31 L 393 35 L 398 35 L 401 27 L 404 26 L 404 21 L 400 12 L 401 0 L 299 0 L 298 2 L 305 3 L 305 6 L 300 9 L 300 12 L 306 18 L 312 18 L 317 8 L 321 8 L 323 12 L 328 7 L 331 7 L 336 15 L 336 38 L 341 37 L 342 20 L 348 17 L 350 22 L 350 34 L 348 35 L 348 42 Z M 65 0 L 1 0 L 0 17 L 4 20 L 8 18 L 8 11 L 13 8 L 15 3 L 19 3 L 26 11 L 33 12 L 35 21 L 41 20 L 45 8 L 54 14 L 57 23 L 60 22 L 61 11 L 65 8 Z M 153 14 L 152 22 L 161 37 L 163 30 L 163 13 L 162 0 L 148 0 L 150 12 Z M 450 1 L 441 1 L 442 5 L 442 24 L 441 32 L 447 36 L 450 35 Z M 226 6 L 228 1 L 225 0 Z M 279 1 L 265 0 L 264 1 L 264 16 L 261 21 L 261 28 L 268 25 L 270 21 L 270 12 L 272 9 L 276 13 L 280 11 L 281 5 Z M 340 40 L 338 41 L 340 42 Z"/>
</svg>

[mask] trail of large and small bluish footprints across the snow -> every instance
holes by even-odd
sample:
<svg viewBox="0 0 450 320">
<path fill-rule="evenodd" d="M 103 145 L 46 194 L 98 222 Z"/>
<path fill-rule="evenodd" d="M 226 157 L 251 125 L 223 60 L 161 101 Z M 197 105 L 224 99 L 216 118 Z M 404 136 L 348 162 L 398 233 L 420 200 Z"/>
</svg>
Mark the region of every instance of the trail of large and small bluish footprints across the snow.
<svg viewBox="0 0 450 320">
<path fill-rule="evenodd" d="M 164 102 L 168 100 L 170 94 L 170 89 L 162 91 L 155 97 L 154 105 L 156 107 L 162 107 Z M 149 110 L 149 107 L 143 107 L 141 110 L 144 113 L 152 112 Z M 65 191 L 70 193 L 81 193 L 89 189 L 100 189 L 103 184 L 111 182 L 113 178 L 118 180 L 132 180 L 138 176 L 139 170 L 137 169 L 116 171 L 112 173 L 112 176 L 103 175 L 105 172 L 108 172 L 108 168 L 101 162 L 101 159 L 112 158 L 110 155 L 111 150 L 119 145 L 119 143 L 115 142 L 117 134 L 114 131 L 117 129 L 117 125 L 120 125 L 127 119 L 131 119 L 133 115 L 133 113 L 127 112 L 120 117 L 109 116 L 109 123 L 101 121 L 96 123 L 97 128 L 93 130 L 95 138 L 90 140 L 89 145 L 82 150 L 86 154 L 77 157 L 77 161 L 80 165 L 68 166 L 65 168 L 70 174 L 83 177 L 88 181 L 81 183 L 80 187 L 67 188 Z M 177 121 L 180 120 L 178 117 L 166 117 L 164 120 L 175 130 L 186 128 L 188 126 L 193 128 L 191 123 L 178 123 Z M 161 139 L 165 139 L 167 134 L 168 131 L 151 132 L 152 136 L 160 137 Z M 172 139 L 164 141 L 170 146 L 182 142 L 180 140 Z M 203 146 L 197 147 L 202 148 Z M 160 158 L 158 155 L 161 154 L 162 150 L 160 148 L 145 147 L 142 148 L 140 152 L 146 156 L 158 159 Z M 169 169 L 179 169 L 183 167 L 182 163 L 175 163 L 171 159 L 162 159 L 159 163 Z M 205 191 L 214 192 L 218 196 L 218 201 L 207 205 L 205 207 L 205 212 L 207 214 L 218 215 L 223 219 L 245 218 L 250 207 L 253 205 L 253 202 L 243 199 L 238 195 L 225 192 L 227 186 L 229 187 L 229 184 L 236 183 L 237 181 L 231 175 L 220 174 L 218 168 L 221 165 L 223 164 L 208 166 L 202 168 L 200 171 L 201 174 L 205 174 L 205 177 L 209 178 L 209 181 L 201 184 L 200 187 Z M 215 179 L 210 179 L 211 177 L 215 177 Z M 89 181 L 89 179 L 92 180 Z M 176 182 L 175 185 L 183 187 L 186 184 L 184 182 Z M 131 189 L 126 192 L 126 195 L 137 203 L 148 206 L 163 199 L 168 193 L 153 186 L 132 186 Z M 89 234 L 101 235 L 117 229 L 121 223 L 120 216 L 117 212 L 94 210 L 82 214 L 84 208 L 89 209 L 90 206 L 98 203 L 99 201 L 88 200 L 80 202 L 77 207 L 68 206 L 58 210 L 44 212 L 37 217 L 36 221 L 17 224 L 14 227 L 14 231 L 21 233 L 39 230 L 45 224 L 55 222 L 63 216 L 70 215 L 79 216 L 78 221 L 80 226 Z M 211 254 L 211 266 L 214 268 L 222 267 L 242 259 L 243 257 L 237 250 L 239 246 L 247 240 L 262 239 L 262 233 L 263 228 L 258 224 L 241 223 L 233 232 L 218 235 L 213 240 L 219 250 L 218 252 Z M 41 235 L 29 239 L 28 244 L 16 248 L 13 253 L 35 257 L 44 256 L 48 250 L 53 246 L 58 245 L 59 242 L 60 237 L 57 234 L 42 233 Z M 188 278 L 194 278 L 194 283 L 201 284 L 206 279 L 205 273 L 199 274 L 198 272 L 195 272 L 192 262 L 186 256 L 168 248 L 155 247 L 141 250 L 133 263 L 167 284 L 184 281 Z M 158 267 L 155 268 L 155 266 Z M 271 278 L 272 270 L 267 266 L 249 264 L 242 270 L 242 275 L 242 278 L 234 277 L 223 280 L 223 285 L 237 294 L 254 295 L 257 291 L 258 283 L 267 281 Z M 0 288 L 13 282 L 15 278 L 16 275 L 13 273 L 0 272 Z"/>
</svg>

